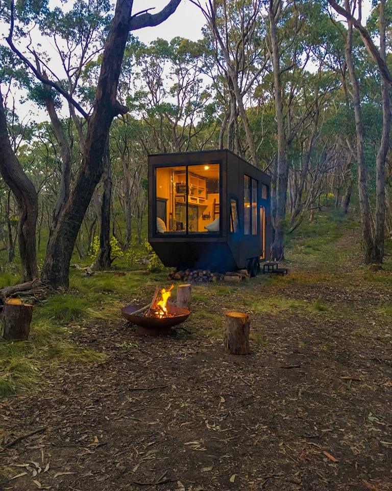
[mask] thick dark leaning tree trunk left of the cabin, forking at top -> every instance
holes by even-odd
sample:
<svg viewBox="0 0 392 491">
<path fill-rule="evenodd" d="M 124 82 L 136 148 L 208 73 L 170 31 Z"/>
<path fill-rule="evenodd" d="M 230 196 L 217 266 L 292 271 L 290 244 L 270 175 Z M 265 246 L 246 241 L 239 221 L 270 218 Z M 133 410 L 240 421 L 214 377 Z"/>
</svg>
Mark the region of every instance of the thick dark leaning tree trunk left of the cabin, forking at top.
<svg viewBox="0 0 392 491">
<path fill-rule="evenodd" d="M 114 17 L 105 43 L 94 109 L 87 123 L 82 166 L 74 190 L 63 208 L 48 243 L 42 280 L 53 286 L 68 286 L 69 263 L 84 214 L 103 173 L 103 154 L 113 118 L 128 108 L 117 102 L 117 85 L 129 32 L 156 26 L 168 18 L 180 0 L 170 2 L 157 14 L 132 15 L 132 0 L 117 0 Z"/>
</svg>

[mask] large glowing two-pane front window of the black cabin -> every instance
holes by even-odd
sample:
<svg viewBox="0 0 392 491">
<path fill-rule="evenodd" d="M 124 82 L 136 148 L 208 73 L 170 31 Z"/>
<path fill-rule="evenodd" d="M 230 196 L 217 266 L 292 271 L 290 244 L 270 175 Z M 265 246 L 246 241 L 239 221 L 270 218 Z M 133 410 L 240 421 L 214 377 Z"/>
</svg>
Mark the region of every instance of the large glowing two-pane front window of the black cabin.
<svg viewBox="0 0 392 491">
<path fill-rule="evenodd" d="M 218 233 L 219 196 L 219 164 L 157 168 L 156 232 Z"/>
</svg>

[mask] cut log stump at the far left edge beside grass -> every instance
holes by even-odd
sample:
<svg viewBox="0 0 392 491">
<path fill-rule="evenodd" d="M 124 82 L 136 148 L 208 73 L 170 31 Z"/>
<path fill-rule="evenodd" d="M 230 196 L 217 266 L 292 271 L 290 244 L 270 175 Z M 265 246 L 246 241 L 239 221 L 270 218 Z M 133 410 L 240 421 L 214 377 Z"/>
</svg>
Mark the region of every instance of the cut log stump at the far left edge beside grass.
<svg viewBox="0 0 392 491">
<path fill-rule="evenodd" d="M 6 300 L 3 308 L 2 336 L 7 341 L 25 341 L 29 338 L 33 305 L 17 298 Z"/>
</svg>

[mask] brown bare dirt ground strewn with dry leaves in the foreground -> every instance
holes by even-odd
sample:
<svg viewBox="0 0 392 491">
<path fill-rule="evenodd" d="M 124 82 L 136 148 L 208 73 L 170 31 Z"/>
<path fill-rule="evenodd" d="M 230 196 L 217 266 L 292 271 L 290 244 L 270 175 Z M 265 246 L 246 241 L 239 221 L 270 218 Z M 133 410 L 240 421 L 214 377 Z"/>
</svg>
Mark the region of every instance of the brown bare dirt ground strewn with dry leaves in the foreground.
<svg viewBox="0 0 392 491">
<path fill-rule="evenodd" d="M 219 296 L 206 287 L 210 301 L 193 310 L 207 312 L 207 327 L 244 292 L 318 302 L 250 311 L 247 356 L 195 336 L 192 317 L 166 338 L 121 320 L 86 325 L 75 340 L 105 362 L 59 367 L 0 402 L 3 447 L 42 429 L 0 453 L 9 477 L 26 473 L 0 488 L 391 490 L 392 329 L 378 309 L 392 292 L 341 275 L 294 272 Z"/>
</svg>

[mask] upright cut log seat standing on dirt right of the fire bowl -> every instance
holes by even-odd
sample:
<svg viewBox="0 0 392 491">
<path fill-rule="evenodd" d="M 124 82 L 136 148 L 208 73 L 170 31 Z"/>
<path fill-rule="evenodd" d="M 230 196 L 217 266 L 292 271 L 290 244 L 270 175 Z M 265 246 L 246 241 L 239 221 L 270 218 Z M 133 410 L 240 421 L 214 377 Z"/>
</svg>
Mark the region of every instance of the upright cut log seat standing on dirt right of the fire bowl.
<svg viewBox="0 0 392 491">
<path fill-rule="evenodd" d="M 249 327 L 247 314 L 226 312 L 224 347 L 230 354 L 249 354 Z"/>
</svg>

